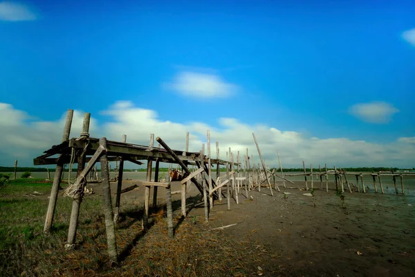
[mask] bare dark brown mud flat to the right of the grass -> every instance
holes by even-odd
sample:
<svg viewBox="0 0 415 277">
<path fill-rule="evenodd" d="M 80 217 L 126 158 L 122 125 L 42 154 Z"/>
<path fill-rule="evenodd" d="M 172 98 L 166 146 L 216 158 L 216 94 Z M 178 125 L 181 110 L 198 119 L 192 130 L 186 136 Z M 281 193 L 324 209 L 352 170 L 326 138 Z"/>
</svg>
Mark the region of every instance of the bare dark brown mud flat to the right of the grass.
<svg viewBox="0 0 415 277">
<path fill-rule="evenodd" d="M 125 181 L 122 188 L 133 184 Z M 100 186 L 91 186 L 100 194 Z M 214 202 L 206 229 L 236 224 L 219 232 L 235 247 L 243 242 L 256 250 L 242 262 L 259 276 L 415 276 L 413 195 L 345 193 L 342 208 L 334 184 L 329 193 L 315 190 L 314 197 L 304 195 L 309 191 L 303 187 L 298 181 L 295 188 L 279 184 L 281 192 L 273 190 L 274 196 L 263 187 L 250 190 L 248 199 L 241 189 L 239 204 L 231 199 L 230 211 L 226 199 Z M 173 183 L 176 190 L 180 184 Z M 158 204 L 165 202 L 165 188 L 158 192 Z M 143 195 L 142 187 L 123 193 L 122 205 L 142 205 Z M 203 222 L 203 202 L 194 185 L 187 197 L 194 201 L 187 205 L 186 220 Z M 180 206 L 174 213 L 180 215 Z"/>
</svg>

